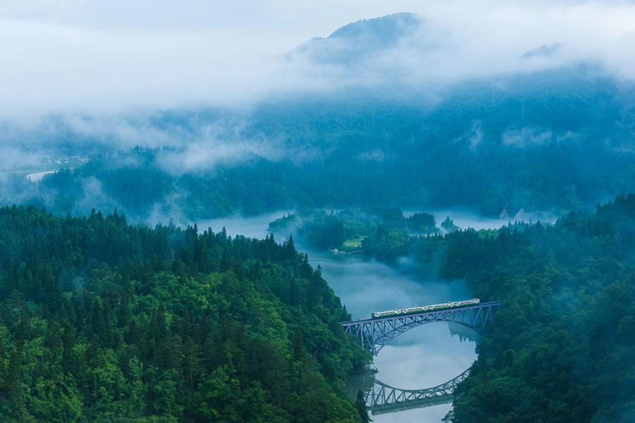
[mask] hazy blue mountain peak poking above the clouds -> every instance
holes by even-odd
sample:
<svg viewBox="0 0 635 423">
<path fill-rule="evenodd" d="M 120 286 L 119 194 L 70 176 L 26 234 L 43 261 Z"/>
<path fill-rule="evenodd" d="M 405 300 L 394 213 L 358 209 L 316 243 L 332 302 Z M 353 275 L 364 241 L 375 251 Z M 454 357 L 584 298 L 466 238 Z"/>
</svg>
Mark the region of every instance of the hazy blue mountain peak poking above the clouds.
<svg viewBox="0 0 635 423">
<path fill-rule="evenodd" d="M 358 20 L 344 25 L 329 37 L 316 37 L 285 55 L 305 57 L 313 63 L 346 65 L 370 59 L 397 47 L 421 30 L 423 20 L 414 13 L 395 13 L 382 18 Z"/>
</svg>

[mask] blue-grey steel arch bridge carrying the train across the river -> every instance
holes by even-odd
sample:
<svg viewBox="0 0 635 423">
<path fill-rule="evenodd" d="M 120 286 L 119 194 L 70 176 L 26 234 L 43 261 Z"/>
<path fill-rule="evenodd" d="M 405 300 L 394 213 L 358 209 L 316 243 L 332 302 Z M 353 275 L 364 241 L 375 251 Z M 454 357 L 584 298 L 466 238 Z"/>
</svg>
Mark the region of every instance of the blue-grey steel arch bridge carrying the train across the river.
<svg viewBox="0 0 635 423">
<path fill-rule="evenodd" d="M 500 310 L 501 304 L 500 301 L 483 302 L 466 307 L 402 314 L 382 319 L 344 321 L 341 324 L 346 333 L 359 339 L 362 348 L 377 355 L 385 345 L 397 336 L 417 326 L 434 321 L 453 321 L 478 333 L 483 333 L 488 324 L 492 322 L 494 313 Z"/>
</svg>

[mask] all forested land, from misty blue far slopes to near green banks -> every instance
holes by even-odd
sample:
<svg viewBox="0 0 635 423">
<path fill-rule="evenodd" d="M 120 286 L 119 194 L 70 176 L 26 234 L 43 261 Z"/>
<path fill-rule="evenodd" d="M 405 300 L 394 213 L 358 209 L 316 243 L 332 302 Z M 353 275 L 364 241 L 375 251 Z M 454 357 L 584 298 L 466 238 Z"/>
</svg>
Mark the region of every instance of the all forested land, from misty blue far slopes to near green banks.
<svg viewBox="0 0 635 423">
<path fill-rule="evenodd" d="M 298 158 L 243 152 L 174 169 L 166 157 L 180 147 L 97 149 L 41 182 L 3 175 L 5 202 L 35 204 L 0 211 L 3 421 L 362 419 L 344 377 L 369 357 L 292 240 L 130 226 L 114 212 L 191 221 L 339 206 L 367 208 L 305 210 L 272 228 L 298 224 L 316 245 L 391 264 L 412 257 L 504 301 L 447 420 L 632 419 L 635 197 L 585 210 L 635 188 L 635 96 L 586 72 L 517 76 L 495 100 L 479 82 L 432 106 L 371 96 L 252 111 L 240 137 L 303 145 Z M 154 125 L 195 137 L 217 118 L 183 116 L 166 111 Z M 456 231 L 399 204 L 571 213 L 554 226 Z M 428 236 L 437 229 L 447 233 Z"/>
</svg>

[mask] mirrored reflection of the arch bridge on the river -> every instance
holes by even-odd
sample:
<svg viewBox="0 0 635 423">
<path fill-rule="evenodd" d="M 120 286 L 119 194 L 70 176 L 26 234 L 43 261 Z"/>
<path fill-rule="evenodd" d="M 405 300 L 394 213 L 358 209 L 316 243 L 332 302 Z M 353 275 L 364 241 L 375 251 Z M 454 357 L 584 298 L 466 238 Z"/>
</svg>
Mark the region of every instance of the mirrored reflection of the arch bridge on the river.
<svg viewBox="0 0 635 423">
<path fill-rule="evenodd" d="M 452 403 L 454 389 L 464 381 L 470 369 L 444 384 L 425 389 L 394 388 L 374 379 L 373 386 L 365 393 L 366 408 L 373 415 L 378 415 Z"/>
</svg>

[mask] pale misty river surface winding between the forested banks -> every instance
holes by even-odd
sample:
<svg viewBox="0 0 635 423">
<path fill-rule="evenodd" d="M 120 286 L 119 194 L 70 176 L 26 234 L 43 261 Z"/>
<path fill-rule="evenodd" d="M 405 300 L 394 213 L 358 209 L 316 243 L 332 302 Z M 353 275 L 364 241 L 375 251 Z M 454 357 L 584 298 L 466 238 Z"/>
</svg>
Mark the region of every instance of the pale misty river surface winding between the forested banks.
<svg viewBox="0 0 635 423">
<path fill-rule="evenodd" d="M 232 216 L 198 221 L 197 224 L 199 231 L 209 227 L 218 232 L 225 227 L 227 234 L 231 236 L 264 238 L 269 223 L 287 213 L 289 212 L 281 211 L 246 218 Z M 437 224 L 445 216 L 449 216 L 462 228 L 497 228 L 509 221 L 484 219 L 476 214 L 452 210 L 444 210 L 442 214 L 435 216 Z M 319 264 L 322 267 L 322 276 L 341 298 L 353 319 L 368 319 L 371 312 L 385 309 L 472 298 L 464 281 L 448 283 L 424 280 L 375 260 L 316 250 L 295 233 L 274 233 L 274 238 L 282 242 L 290 234 L 294 235 L 296 248 L 308 253 L 310 264 Z M 375 377 L 396 388 L 421 389 L 437 386 L 470 367 L 476 360 L 475 348 L 475 342 L 461 341 L 459 336 L 453 336 L 446 323 L 419 326 L 382 348 L 374 359 L 373 367 L 377 369 Z M 387 415 L 373 415 L 372 419 L 377 423 L 438 423 L 451 409 L 450 404 L 436 405 Z"/>
</svg>

